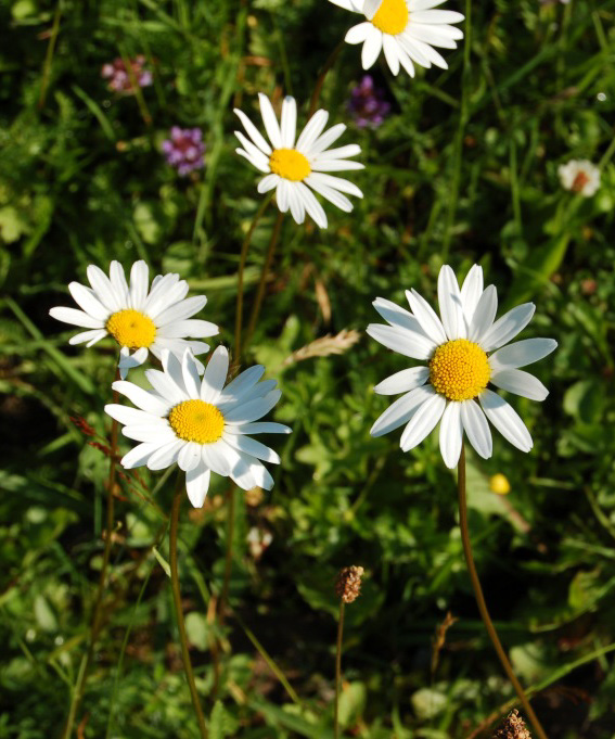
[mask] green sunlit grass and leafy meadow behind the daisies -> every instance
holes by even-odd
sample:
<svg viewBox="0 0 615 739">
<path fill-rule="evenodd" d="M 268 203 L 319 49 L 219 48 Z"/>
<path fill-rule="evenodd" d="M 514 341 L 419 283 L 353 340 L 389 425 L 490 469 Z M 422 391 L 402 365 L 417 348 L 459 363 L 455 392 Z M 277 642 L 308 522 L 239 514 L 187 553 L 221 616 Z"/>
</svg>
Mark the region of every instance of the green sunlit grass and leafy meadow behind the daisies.
<svg viewBox="0 0 615 739">
<path fill-rule="evenodd" d="M 184 608 L 213 739 L 332 736 L 332 581 L 350 563 L 367 578 L 347 609 L 347 736 L 462 739 L 513 698 L 478 620 L 437 439 L 402 455 L 398 433 L 369 436 L 388 403 L 372 387 L 405 360 L 362 334 L 344 355 L 284 362 L 328 332 L 362 331 L 376 295 L 402 303 L 415 286 L 434 301 L 444 262 L 461 273 L 482 264 L 502 305 L 537 304 L 524 337 L 560 342 L 537 366 L 549 398 L 513 400 L 534 450 L 497 437 L 491 460 L 469 459 L 470 523 L 492 615 L 524 684 L 541 688 L 551 739 L 614 736 L 615 2 L 472 5 L 465 60 L 464 44 L 445 52 L 449 71 L 395 79 L 381 59 L 393 112 L 377 130 L 347 120 L 357 48 L 324 86 L 331 120 L 349 124 L 342 144 L 363 149 L 351 179 L 366 198 L 349 215 L 326 206 L 323 232 L 283 224 L 249 361 L 280 381 L 276 418 L 294 433 L 273 441 L 283 461 L 271 494 L 257 505 L 236 494 L 235 616 L 222 629 L 207 613 L 228 485 L 215 480 L 205 509 L 182 512 Z M 48 309 L 68 304 L 65 285 L 85 281 L 88 264 L 142 257 L 205 292 L 203 317 L 232 347 L 239 251 L 260 202 L 234 154 L 233 103 L 256 120 L 258 91 L 292 92 L 305 123 L 318 71 L 353 21 L 325 0 L 0 1 L 0 737 L 60 735 L 103 546 L 107 460 L 69 417 L 107 432 L 114 349 L 68 347 Z M 108 92 L 101 66 L 138 53 L 154 86 Z M 194 177 L 165 164 L 171 125 L 203 129 Z M 600 163 L 592 199 L 561 190 L 556 169 L 572 157 Z M 273 219 L 271 207 L 251 247 L 248 311 Z M 505 498 L 489 492 L 498 472 Z M 197 736 L 161 565 L 170 488 L 145 471 L 117 489 L 81 737 Z M 246 543 L 254 526 L 273 537 L 260 559 Z M 459 621 L 432 671 L 448 611 Z"/>
</svg>

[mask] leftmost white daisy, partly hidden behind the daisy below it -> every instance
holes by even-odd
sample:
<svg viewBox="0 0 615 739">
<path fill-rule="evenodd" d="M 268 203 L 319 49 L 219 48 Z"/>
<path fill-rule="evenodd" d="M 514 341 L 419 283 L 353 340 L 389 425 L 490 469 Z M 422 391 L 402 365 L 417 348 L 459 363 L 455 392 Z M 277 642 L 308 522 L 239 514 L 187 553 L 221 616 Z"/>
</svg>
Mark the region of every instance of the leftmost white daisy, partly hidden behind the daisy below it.
<svg viewBox="0 0 615 739">
<path fill-rule="evenodd" d="M 150 286 L 149 268 L 143 260 L 130 269 L 130 285 L 119 262 L 112 262 L 108 277 L 94 265 L 87 270 L 91 288 L 71 282 L 71 295 L 81 308 L 51 308 L 53 318 L 88 331 L 75 334 L 69 344 L 92 346 L 107 334 L 119 344 L 119 373 L 139 367 L 151 352 L 158 359 L 165 349 L 182 356 L 187 347 L 203 354 L 209 345 L 203 339 L 218 333 L 209 321 L 191 318 L 205 307 L 205 295 L 185 297 L 188 282 L 179 275 L 157 275 Z M 190 336 L 191 340 L 185 337 Z M 201 365 L 201 362 L 198 362 Z M 201 365 L 203 369 L 203 366 Z"/>
</svg>

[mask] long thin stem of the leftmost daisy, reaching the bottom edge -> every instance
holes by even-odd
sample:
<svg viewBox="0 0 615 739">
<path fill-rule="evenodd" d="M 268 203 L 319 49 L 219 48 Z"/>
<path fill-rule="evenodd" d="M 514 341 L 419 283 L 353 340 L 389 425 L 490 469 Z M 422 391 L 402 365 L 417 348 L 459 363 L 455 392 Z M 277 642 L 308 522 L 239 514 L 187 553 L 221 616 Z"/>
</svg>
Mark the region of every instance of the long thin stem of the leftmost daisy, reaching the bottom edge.
<svg viewBox="0 0 615 739">
<path fill-rule="evenodd" d="M 119 380 L 119 368 L 115 370 L 115 380 Z M 118 403 L 119 393 L 113 391 L 113 403 Z M 92 662 L 94 655 L 94 647 L 99 638 L 101 630 L 103 615 L 102 615 L 102 600 L 104 596 L 104 589 L 106 585 L 106 571 L 108 569 L 108 560 L 111 558 L 111 546 L 113 539 L 113 528 L 115 519 L 115 498 L 113 497 L 113 492 L 115 488 L 115 469 L 117 466 L 117 432 L 119 430 L 119 423 L 114 419 L 111 424 L 111 439 L 110 439 L 110 467 L 108 467 L 108 480 L 106 484 L 106 534 L 104 540 L 104 551 L 103 561 L 101 566 L 101 573 L 99 576 L 99 587 L 97 590 L 97 599 L 94 601 L 94 609 L 92 612 L 92 623 L 90 626 L 90 641 L 88 644 L 88 651 L 81 659 L 79 665 L 79 673 L 77 674 L 77 683 L 75 684 L 75 689 L 73 690 L 73 696 L 71 698 L 71 706 L 68 709 L 68 716 L 66 718 L 66 724 L 64 725 L 64 730 L 62 732 L 62 739 L 68 739 L 73 734 L 73 725 L 75 723 L 75 716 L 79 710 L 81 699 L 84 698 L 84 690 L 86 688 L 86 680 L 88 678 L 88 670 Z"/>
</svg>

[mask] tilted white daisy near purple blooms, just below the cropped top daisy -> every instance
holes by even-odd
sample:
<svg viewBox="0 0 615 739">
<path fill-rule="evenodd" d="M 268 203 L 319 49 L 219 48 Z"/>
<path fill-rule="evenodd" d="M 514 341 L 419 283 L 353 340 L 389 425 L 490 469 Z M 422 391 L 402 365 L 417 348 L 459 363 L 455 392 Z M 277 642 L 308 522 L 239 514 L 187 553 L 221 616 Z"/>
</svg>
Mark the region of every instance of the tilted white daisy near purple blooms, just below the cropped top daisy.
<svg viewBox="0 0 615 739">
<path fill-rule="evenodd" d="M 282 213 L 290 208 L 297 224 L 304 222 L 307 212 L 320 228 L 326 228 L 326 216 L 312 190 L 342 211 L 350 213 L 353 203 L 343 193 L 356 198 L 362 198 L 363 193 L 353 182 L 328 174 L 363 168 L 359 162 L 346 158 L 361 152 L 358 144 L 350 143 L 338 149 L 329 149 L 346 130 L 346 126 L 337 124 L 323 133 L 329 113 L 317 111 L 295 141 L 297 128 L 295 99 L 290 95 L 284 98 L 281 125 L 278 125 L 269 98 L 261 92 L 258 100 L 271 145 L 245 113 L 236 109 L 234 111 L 247 133 L 246 137 L 241 131 L 235 131 L 242 145 L 235 151 L 266 175 L 258 183 L 258 192 L 268 192 L 276 188 L 278 207 Z"/>
</svg>

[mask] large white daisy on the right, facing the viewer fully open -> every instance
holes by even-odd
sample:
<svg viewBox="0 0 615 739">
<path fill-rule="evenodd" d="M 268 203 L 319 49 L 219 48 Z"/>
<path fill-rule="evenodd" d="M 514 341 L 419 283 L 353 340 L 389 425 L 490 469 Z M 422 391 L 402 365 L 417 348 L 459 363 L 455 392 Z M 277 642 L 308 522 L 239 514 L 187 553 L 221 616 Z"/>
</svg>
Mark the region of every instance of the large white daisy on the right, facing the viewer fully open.
<svg viewBox="0 0 615 739">
<path fill-rule="evenodd" d="M 488 459 L 494 426 L 513 446 L 529 451 L 531 436 L 496 387 L 543 400 L 549 391 L 534 375 L 520 370 L 553 352 L 552 339 L 526 339 L 509 344 L 530 321 L 536 306 L 518 305 L 498 320 L 498 294 L 483 289 L 483 269 L 474 265 L 461 290 L 445 265 L 438 277 L 440 317 L 415 290 L 406 291 L 410 310 L 379 297 L 374 307 L 388 326 L 372 323 L 368 333 L 389 349 L 426 361 L 390 375 L 374 387 L 381 395 L 405 393 L 373 424 L 372 436 L 406 424 L 401 449 L 420 444 L 440 421 L 440 451 L 447 467 L 459 461 L 463 432 L 476 451 Z M 497 351 L 496 351 L 497 349 Z"/>
</svg>

